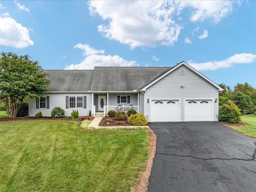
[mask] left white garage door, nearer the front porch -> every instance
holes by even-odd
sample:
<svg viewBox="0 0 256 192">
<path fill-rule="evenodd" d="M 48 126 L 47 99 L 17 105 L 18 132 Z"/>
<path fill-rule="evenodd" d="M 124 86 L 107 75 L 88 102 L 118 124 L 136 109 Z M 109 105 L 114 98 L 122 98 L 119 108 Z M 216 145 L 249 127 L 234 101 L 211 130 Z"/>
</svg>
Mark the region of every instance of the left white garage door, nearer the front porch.
<svg viewBox="0 0 256 192">
<path fill-rule="evenodd" d="M 179 121 L 179 100 L 152 100 L 151 121 Z"/>
</svg>

